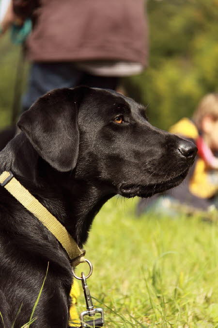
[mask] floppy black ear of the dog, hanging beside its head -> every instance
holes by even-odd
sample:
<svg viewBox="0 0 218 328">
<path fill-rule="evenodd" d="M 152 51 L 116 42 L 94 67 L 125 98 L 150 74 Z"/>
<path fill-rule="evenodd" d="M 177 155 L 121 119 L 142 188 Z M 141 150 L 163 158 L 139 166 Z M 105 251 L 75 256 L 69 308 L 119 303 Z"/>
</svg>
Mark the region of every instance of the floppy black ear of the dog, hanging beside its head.
<svg viewBox="0 0 218 328">
<path fill-rule="evenodd" d="M 39 155 L 59 171 L 78 159 L 78 107 L 88 87 L 56 89 L 39 98 L 17 123 Z"/>
</svg>

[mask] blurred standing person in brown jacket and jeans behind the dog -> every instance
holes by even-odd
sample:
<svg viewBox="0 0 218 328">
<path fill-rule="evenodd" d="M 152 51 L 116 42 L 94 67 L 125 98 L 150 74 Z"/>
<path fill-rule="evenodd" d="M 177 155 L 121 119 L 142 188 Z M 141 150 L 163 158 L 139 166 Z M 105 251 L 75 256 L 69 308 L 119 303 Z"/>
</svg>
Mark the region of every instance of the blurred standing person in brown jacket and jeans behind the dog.
<svg viewBox="0 0 218 328">
<path fill-rule="evenodd" d="M 22 109 L 54 88 L 116 89 L 119 78 L 147 65 L 144 0 L 12 0 L 13 15 L 31 18 L 31 61 Z M 13 16 L 10 15 L 10 16 Z M 8 22 L 7 22 L 8 24 Z"/>
</svg>

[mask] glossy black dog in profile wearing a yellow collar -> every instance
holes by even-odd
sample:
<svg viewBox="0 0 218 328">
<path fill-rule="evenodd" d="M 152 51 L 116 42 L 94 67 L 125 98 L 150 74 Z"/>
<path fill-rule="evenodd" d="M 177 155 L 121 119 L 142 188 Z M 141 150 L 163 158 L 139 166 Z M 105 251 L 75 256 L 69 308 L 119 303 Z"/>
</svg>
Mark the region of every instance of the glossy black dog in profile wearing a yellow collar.
<svg viewBox="0 0 218 328">
<path fill-rule="evenodd" d="M 58 89 L 25 112 L 22 132 L 0 152 L 11 170 L 77 241 L 112 196 L 150 197 L 178 185 L 193 163 L 191 142 L 148 123 L 130 98 L 88 87 Z M 0 187 L 0 312 L 5 328 L 27 323 L 48 276 L 31 327 L 66 328 L 72 283 L 56 238 Z M 0 324 L 3 327 L 3 324 Z"/>
</svg>

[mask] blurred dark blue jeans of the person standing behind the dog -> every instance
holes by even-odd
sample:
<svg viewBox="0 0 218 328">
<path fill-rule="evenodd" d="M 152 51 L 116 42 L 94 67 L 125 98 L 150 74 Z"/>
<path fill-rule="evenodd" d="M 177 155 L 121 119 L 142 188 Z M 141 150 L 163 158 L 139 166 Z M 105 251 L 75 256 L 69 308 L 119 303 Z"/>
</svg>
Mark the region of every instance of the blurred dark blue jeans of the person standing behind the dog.
<svg viewBox="0 0 218 328">
<path fill-rule="evenodd" d="M 22 99 L 22 110 L 29 109 L 36 99 L 52 89 L 87 85 L 115 90 L 118 81 L 117 77 L 90 75 L 78 70 L 70 62 L 32 63 L 27 92 Z"/>
</svg>

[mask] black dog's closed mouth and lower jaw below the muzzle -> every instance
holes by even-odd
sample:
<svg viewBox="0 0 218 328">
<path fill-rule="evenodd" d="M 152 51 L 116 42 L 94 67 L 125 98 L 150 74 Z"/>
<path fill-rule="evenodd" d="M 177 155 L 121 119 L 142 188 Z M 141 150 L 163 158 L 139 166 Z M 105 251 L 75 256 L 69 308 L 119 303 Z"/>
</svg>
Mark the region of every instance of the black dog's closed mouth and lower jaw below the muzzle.
<svg viewBox="0 0 218 328">
<path fill-rule="evenodd" d="M 162 193 L 168 189 L 178 186 L 187 176 L 188 168 L 180 173 L 178 176 L 171 178 L 170 180 L 150 183 L 147 185 L 140 184 L 121 184 L 119 188 L 119 194 L 121 196 L 130 198 L 139 196 L 142 198 L 152 197 L 157 193 Z"/>
</svg>

